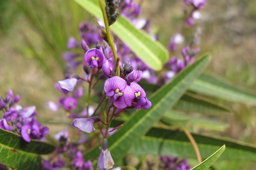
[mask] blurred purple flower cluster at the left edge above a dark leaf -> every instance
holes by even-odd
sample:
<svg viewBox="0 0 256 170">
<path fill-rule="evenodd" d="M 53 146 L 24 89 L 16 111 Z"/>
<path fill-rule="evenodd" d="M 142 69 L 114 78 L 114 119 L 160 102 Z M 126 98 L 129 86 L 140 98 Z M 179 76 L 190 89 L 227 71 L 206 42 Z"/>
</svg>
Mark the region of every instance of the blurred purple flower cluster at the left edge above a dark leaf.
<svg viewBox="0 0 256 170">
<path fill-rule="evenodd" d="M 4 112 L 3 118 L 0 119 L 0 128 L 20 134 L 27 142 L 31 139 L 43 140 L 49 128 L 36 120 L 35 106 L 13 106 L 19 100 L 20 96 L 14 97 L 12 90 L 8 91 L 5 99 L 0 97 L 0 110 Z"/>
</svg>

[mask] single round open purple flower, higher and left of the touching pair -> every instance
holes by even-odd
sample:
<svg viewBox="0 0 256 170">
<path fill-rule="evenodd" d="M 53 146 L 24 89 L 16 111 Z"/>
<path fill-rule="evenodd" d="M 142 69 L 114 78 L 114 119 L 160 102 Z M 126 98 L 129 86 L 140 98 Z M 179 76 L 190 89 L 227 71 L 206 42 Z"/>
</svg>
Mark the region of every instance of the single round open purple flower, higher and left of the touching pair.
<svg viewBox="0 0 256 170">
<path fill-rule="evenodd" d="M 105 56 L 99 49 L 90 49 L 84 55 L 84 63 L 90 68 L 102 67 Z"/>
</svg>

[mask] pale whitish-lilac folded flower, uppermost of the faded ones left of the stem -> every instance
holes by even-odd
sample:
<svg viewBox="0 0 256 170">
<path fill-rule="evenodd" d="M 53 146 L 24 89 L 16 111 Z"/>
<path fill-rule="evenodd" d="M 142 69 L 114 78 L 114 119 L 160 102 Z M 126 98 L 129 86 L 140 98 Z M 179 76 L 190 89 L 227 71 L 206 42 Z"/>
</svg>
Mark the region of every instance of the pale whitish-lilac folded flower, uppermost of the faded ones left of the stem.
<svg viewBox="0 0 256 170">
<path fill-rule="evenodd" d="M 68 94 L 68 92 L 72 92 L 78 82 L 78 79 L 79 79 L 78 76 L 73 76 L 72 78 L 58 81 L 60 90 L 62 90 L 64 94 Z"/>
</svg>

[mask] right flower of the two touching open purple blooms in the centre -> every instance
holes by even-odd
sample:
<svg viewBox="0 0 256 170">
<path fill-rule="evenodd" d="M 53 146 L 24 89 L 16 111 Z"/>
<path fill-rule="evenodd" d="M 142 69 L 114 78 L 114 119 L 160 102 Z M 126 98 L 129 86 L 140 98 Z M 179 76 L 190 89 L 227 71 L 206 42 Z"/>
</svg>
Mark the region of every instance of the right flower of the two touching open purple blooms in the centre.
<svg viewBox="0 0 256 170">
<path fill-rule="evenodd" d="M 135 109 L 149 109 L 152 105 L 146 98 L 143 88 L 135 82 L 131 82 L 130 86 L 126 86 L 124 90 L 124 101 L 127 106 L 132 106 Z"/>
</svg>

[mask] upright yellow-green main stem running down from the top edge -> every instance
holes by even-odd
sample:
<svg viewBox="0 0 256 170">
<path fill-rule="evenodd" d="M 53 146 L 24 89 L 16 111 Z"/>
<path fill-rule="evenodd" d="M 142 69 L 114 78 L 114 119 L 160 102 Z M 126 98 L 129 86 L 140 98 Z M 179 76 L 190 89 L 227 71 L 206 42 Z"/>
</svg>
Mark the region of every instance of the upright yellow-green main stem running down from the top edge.
<svg viewBox="0 0 256 170">
<path fill-rule="evenodd" d="M 99 0 L 99 4 L 100 4 L 100 9 L 101 9 L 102 14 L 103 14 L 103 19 L 104 19 L 104 24 L 105 24 L 105 29 L 106 29 L 106 35 L 107 35 L 107 39 L 108 39 L 108 45 L 110 46 L 110 48 L 112 50 L 115 65 L 117 65 L 116 68 L 115 68 L 115 72 L 117 73 L 117 76 L 120 76 L 119 64 L 116 64 L 118 57 L 117 57 L 116 48 L 115 48 L 114 40 L 113 40 L 113 37 L 112 37 L 112 33 L 111 33 L 109 25 L 108 25 L 108 16 L 106 14 L 103 1 Z"/>
</svg>

